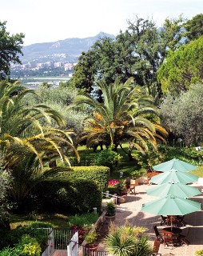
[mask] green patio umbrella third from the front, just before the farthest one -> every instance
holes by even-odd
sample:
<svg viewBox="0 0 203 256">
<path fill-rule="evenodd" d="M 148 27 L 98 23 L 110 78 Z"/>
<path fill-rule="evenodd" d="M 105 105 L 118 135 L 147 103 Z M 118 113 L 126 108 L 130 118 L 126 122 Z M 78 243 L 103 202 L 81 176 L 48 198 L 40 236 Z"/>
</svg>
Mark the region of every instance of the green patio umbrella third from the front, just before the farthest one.
<svg viewBox="0 0 203 256">
<path fill-rule="evenodd" d="M 179 182 L 182 184 L 188 184 L 192 182 L 197 182 L 198 176 L 193 174 L 188 174 L 179 170 L 169 170 L 162 174 L 157 174 L 150 179 L 151 183 L 164 184 L 168 182 Z"/>
</svg>

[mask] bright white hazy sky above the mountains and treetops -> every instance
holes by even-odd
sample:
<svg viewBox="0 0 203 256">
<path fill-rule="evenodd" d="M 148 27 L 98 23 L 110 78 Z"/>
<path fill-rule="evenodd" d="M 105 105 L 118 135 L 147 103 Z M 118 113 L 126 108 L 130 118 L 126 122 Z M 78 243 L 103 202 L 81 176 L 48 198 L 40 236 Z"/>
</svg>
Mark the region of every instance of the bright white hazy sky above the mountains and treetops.
<svg viewBox="0 0 203 256">
<path fill-rule="evenodd" d="M 159 27 L 165 18 L 190 19 L 202 11 L 203 0 L 0 0 L 0 22 L 10 34 L 25 34 L 24 46 L 99 32 L 116 36 L 136 15 Z"/>
</svg>

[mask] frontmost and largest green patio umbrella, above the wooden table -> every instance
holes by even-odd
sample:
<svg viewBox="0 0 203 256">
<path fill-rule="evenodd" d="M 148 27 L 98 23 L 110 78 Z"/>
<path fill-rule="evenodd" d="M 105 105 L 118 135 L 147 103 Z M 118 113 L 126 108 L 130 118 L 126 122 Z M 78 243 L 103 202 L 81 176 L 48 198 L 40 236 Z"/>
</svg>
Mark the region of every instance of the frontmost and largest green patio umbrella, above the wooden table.
<svg viewBox="0 0 203 256">
<path fill-rule="evenodd" d="M 179 198 L 173 194 L 142 205 L 141 211 L 154 215 L 185 215 L 201 210 L 201 203 Z"/>
</svg>

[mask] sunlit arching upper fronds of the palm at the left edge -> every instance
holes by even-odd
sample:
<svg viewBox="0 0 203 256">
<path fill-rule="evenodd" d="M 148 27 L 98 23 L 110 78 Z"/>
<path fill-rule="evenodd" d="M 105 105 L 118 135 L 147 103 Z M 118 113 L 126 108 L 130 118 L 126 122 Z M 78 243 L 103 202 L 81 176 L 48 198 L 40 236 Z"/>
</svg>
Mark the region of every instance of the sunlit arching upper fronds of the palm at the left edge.
<svg viewBox="0 0 203 256">
<path fill-rule="evenodd" d="M 58 154 L 62 161 L 68 161 L 62 143 L 77 154 L 71 133 L 50 127 L 51 120 L 58 126 L 65 125 L 61 114 L 42 104 L 22 105 L 22 98 L 30 93 L 34 94 L 34 91 L 27 90 L 19 82 L 0 82 L 0 148 L 7 168 L 30 153 L 35 154 L 41 166 L 45 152 L 46 158 L 48 154 L 52 157 Z"/>
</svg>

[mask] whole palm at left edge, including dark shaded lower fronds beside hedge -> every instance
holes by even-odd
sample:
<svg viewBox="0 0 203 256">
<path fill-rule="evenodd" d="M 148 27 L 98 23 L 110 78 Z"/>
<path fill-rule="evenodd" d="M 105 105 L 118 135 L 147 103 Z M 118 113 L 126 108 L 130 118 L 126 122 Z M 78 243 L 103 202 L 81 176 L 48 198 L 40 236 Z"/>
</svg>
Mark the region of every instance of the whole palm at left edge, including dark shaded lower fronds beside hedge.
<svg viewBox="0 0 203 256">
<path fill-rule="evenodd" d="M 18 210 L 38 182 L 60 170 L 44 170 L 46 162 L 60 158 L 70 164 L 68 150 L 78 156 L 72 133 L 60 129 L 65 125 L 61 114 L 42 104 L 22 104 L 22 98 L 30 93 L 34 91 L 19 82 L 0 82 L 0 159 L 2 168 L 10 170 L 10 198 L 17 202 Z M 50 126 L 53 120 L 58 128 Z"/>
</svg>

